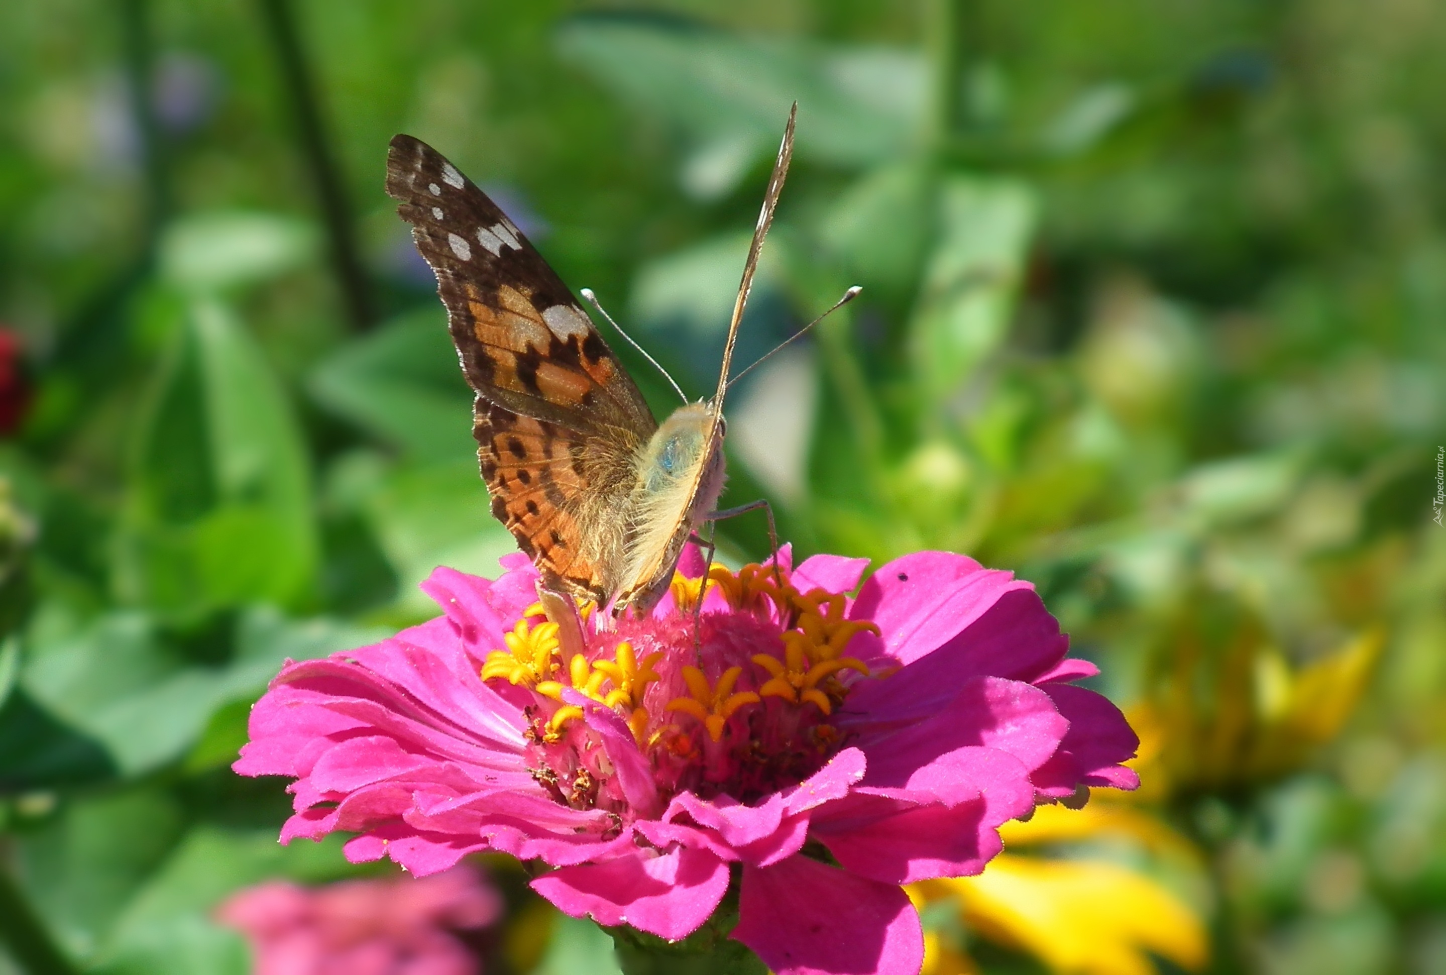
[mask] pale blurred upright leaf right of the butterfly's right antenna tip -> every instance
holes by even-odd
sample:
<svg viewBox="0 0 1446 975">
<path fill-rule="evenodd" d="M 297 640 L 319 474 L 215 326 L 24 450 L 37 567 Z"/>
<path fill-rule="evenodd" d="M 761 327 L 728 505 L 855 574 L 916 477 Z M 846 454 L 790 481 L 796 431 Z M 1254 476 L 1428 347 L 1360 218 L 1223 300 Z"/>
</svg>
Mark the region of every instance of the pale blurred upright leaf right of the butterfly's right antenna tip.
<svg viewBox="0 0 1446 975">
<path fill-rule="evenodd" d="M 1004 340 L 1035 220 L 1034 194 L 1008 179 L 951 176 L 938 205 L 941 236 L 910 324 L 914 366 L 934 401 Z"/>
</svg>

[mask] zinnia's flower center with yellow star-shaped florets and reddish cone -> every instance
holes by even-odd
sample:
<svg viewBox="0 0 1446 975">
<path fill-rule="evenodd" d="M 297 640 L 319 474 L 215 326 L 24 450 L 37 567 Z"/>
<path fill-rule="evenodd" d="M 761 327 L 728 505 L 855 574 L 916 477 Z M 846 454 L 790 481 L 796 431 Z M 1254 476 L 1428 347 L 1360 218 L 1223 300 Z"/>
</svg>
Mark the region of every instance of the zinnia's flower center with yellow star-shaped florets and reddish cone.
<svg viewBox="0 0 1446 975">
<path fill-rule="evenodd" d="M 487 655 L 483 680 L 531 696 L 532 774 L 557 801 L 642 812 L 623 799 L 576 694 L 626 722 L 662 801 L 688 790 L 750 803 L 803 781 L 842 746 L 829 719 L 869 677 L 844 650 L 859 631 L 878 634 L 844 618 L 843 595 L 800 593 L 772 567 L 713 566 L 707 580 L 675 574 L 672 596 L 668 613 L 584 628 L 583 652 L 565 661 L 558 623 L 535 605 L 506 634 L 508 648 Z"/>
</svg>

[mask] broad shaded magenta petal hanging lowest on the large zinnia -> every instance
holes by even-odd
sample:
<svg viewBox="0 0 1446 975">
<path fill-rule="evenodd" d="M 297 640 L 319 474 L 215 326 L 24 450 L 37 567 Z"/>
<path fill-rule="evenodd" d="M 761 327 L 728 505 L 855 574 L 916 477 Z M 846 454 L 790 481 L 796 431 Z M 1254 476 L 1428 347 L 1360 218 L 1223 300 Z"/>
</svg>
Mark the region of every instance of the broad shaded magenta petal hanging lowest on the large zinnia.
<svg viewBox="0 0 1446 975">
<path fill-rule="evenodd" d="M 778 975 L 918 975 L 924 963 L 902 890 L 805 856 L 743 868 L 732 937 Z"/>
</svg>

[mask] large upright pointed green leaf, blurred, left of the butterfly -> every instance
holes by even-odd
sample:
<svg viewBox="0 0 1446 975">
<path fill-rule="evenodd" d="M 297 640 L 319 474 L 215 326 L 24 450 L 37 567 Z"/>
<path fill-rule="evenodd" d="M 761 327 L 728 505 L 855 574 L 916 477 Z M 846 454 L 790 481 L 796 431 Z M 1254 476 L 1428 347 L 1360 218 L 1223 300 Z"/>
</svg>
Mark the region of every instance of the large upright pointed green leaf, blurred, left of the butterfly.
<svg viewBox="0 0 1446 975">
<path fill-rule="evenodd" d="M 137 441 L 116 554 L 124 599 L 188 618 L 307 600 L 318 541 L 305 444 L 224 305 L 189 307 Z"/>
</svg>

